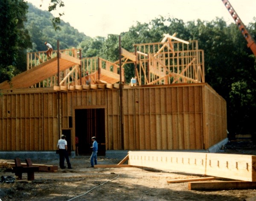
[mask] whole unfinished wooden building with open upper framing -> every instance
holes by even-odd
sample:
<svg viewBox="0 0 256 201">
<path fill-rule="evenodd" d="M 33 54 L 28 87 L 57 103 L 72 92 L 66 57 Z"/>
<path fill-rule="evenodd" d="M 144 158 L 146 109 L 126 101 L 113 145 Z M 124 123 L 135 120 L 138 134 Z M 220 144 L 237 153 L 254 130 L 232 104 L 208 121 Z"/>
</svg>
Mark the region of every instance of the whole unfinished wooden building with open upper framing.
<svg viewBox="0 0 256 201">
<path fill-rule="evenodd" d="M 191 50 L 192 55 L 183 47 L 181 54 L 175 52 L 176 43 L 162 43 L 162 49 L 158 46 L 154 50 L 158 52 L 157 59 L 151 56 L 147 61 L 141 47 L 139 54 L 128 54 L 123 49 L 123 63 L 137 66 L 139 86 L 133 87 L 116 84 L 120 81 L 114 75 L 120 73 L 116 63 L 99 58 L 95 62 L 93 58 L 79 62 L 81 57 L 74 49 L 75 54 L 58 58 L 57 75 L 52 66 L 56 65 L 52 64 L 55 58 L 44 61 L 41 56 L 29 59 L 32 54 L 28 55 L 30 67 L 26 75 L 37 77 L 42 68 L 48 68 L 49 74 L 29 83 L 29 88 L 17 87 L 25 82 L 20 81 L 25 74 L 13 79 L 12 86 L 16 87 L 0 84 L 0 154 L 53 152 L 61 134 L 67 136 L 73 154 L 75 136 L 79 137 L 83 154 L 90 153 L 92 136 L 97 137 L 102 155 L 109 150 L 207 150 L 218 144 L 227 138 L 226 102 L 204 83 L 203 57 L 195 55 L 201 51 Z M 165 52 L 159 56 L 159 50 Z M 70 55 L 75 55 L 76 60 L 70 60 Z M 181 66 L 174 65 L 176 57 Z M 35 58 L 42 62 L 35 64 L 31 61 Z M 65 66 L 67 60 L 70 66 Z M 153 60 L 158 72 L 150 67 Z M 196 61 L 201 63 L 200 68 Z M 88 75 L 84 74 L 88 70 L 92 78 L 89 85 Z M 147 82 L 144 85 L 143 80 Z"/>
</svg>

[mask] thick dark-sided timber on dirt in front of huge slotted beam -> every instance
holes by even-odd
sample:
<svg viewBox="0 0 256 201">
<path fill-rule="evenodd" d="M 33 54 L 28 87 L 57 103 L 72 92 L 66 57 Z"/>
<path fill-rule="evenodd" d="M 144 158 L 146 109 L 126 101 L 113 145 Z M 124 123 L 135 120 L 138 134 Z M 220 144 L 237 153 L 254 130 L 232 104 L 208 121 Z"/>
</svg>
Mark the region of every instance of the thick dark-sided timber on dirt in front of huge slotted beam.
<svg viewBox="0 0 256 201">
<path fill-rule="evenodd" d="M 202 181 L 189 182 L 189 190 L 256 189 L 256 182 L 250 181 Z"/>
</svg>

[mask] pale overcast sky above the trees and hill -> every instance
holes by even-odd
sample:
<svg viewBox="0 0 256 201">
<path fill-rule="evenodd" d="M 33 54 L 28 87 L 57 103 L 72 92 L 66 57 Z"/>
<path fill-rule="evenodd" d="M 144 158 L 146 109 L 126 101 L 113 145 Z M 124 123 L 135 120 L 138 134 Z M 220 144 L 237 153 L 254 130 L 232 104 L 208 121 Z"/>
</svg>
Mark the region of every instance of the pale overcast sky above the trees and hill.
<svg viewBox="0 0 256 201">
<path fill-rule="evenodd" d="M 26 0 L 39 9 L 47 10 L 50 0 Z M 222 0 L 63 0 L 64 7 L 53 13 L 64 12 L 61 20 L 90 37 L 128 32 L 131 26 L 149 23 L 163 16 L 183 20 L 215 20 L 223 17 L 227 24 L 233 18 Z M 245 26 L 254 22 L 256 0 L 229 0 Z M 42 5 L 40 7 L 40 5 Z M 175 30 L 174 30 L 175 32 Z M 168 33 L 173 34 L 173 33 Z"/>
</svg>

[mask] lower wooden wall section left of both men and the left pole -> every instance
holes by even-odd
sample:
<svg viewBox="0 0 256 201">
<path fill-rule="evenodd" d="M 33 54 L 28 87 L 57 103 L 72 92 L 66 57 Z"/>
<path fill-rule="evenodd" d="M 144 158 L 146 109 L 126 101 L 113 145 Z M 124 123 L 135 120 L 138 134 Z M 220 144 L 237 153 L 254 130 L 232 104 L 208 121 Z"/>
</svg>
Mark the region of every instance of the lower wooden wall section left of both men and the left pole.
<svg viewBox="0 0 256 201">
<path fill-rule="evenodd" d="M 55 92 L 8 94 L 0 99 L 1 150 L 56 148 L 57 99 Z"/>
</svg>

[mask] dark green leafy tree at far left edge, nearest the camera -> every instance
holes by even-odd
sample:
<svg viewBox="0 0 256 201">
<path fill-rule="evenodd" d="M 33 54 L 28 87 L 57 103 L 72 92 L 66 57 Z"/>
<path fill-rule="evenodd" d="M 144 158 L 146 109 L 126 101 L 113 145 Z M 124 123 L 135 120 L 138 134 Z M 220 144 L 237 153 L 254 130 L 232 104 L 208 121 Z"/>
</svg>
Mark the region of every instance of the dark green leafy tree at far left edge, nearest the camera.
<svg viewBox="0 0 256 201">
<path fill-rule="evenodd" d="M 23 0 L 0 1 L 0 83 L 26 69 L 26 49 L 30 37 L 23 22 L 27 4 Z M 24 67 L 25 66 L 25 67 Z"/>
</svg>

